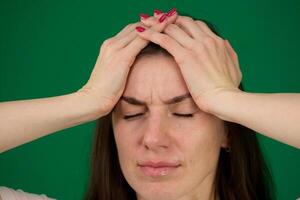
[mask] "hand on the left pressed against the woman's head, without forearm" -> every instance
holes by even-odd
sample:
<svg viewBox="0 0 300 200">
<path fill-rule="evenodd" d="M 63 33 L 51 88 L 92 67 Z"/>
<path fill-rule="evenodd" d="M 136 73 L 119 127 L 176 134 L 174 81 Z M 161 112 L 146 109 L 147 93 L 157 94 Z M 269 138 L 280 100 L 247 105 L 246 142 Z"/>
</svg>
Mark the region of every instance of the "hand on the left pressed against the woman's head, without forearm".
<svg viewBox="0 0 300 200">
<path fill-rule="evenodd" d="M 166 25 L 175 22 L 176 9 L 171 11 L 173 15 L 169 14 L 161 23 L 159 18 L 164 13 L 159 14 L 158 17 L 157 15 L 156 17 L 149 16 L 147 20 L 156 21 L 149 28 L 161 32 Z M 142 17 L 141 19 L 143 21 Z M 142 25 L 141 22 L 129 24 L 117 35 L 102 43 L 89 80 L 77 91 L 87 94 L 93 99 L 93 102 L 100 106 L 97 108 L 101 112 L 99 116 L 107 115 L 114 108 L 125 89 L 131 65 L 138 53 L 149 43 L 148 40 L 142 39 L 136 33 L 135 28 L 140 25 Z"/>
</svg>

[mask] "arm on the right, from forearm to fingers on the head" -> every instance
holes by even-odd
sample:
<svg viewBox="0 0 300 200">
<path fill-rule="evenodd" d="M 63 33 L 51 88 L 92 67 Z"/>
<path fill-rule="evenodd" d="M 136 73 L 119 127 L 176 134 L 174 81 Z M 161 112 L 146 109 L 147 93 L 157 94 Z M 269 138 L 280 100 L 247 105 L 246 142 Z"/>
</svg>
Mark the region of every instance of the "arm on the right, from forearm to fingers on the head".
<svg viewBox="0 0 300 200">
<path fill-rule="evenodd" d="M 300 148 L 300 94 L 240 91 L 236 52 L 204 22 L 178 16 L 163 33 L 146 29 L 139 36 L 172 54 L 200 109 Z"/>
</svg>

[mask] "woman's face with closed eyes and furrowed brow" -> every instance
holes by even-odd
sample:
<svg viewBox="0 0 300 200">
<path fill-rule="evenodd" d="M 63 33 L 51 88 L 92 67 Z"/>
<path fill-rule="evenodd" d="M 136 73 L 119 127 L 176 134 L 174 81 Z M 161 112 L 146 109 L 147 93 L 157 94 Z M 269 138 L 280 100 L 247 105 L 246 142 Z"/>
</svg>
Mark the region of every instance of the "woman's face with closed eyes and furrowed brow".
<svg viewBox="0 0 300 200">
<path fill-rule="evenodd" d="M 227 145 L 224 122 L 191 97 L 167 103 L 184 94 L 172 57 L 144 56 L 132 66 L 112 123 L 122 172 L 139 200 L 211 198 L 219 151 Z"/>
</svg>

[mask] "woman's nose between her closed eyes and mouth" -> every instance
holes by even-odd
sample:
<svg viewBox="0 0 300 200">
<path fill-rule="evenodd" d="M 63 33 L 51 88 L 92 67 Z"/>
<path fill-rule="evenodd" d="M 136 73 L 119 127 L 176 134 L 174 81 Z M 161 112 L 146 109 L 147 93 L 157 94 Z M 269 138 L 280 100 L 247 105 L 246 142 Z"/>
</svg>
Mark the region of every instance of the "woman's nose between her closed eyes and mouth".
<svg viewBox="0 0 300 200">
<path fill-rule="evenodd" d="M 152 151 L 159 151 L 170 146 L 169 125 L 162 115 L 153 115 L 145 127 L 142 145 Z"/>
</svg>

